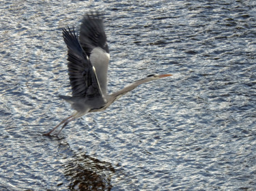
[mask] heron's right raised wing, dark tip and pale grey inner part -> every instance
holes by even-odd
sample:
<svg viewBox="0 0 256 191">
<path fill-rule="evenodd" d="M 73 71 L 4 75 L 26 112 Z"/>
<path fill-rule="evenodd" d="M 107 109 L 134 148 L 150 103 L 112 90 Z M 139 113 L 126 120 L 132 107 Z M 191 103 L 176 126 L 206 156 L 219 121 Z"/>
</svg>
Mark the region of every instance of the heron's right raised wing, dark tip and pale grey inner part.
<svg viewBox="0 0 256 191">
<path fill-rule="evenodd" d="M 83 17 L 79 42 L 96 69 L 96 75 L 103 94 L 106 94 L 109 65 L 109 46 L 106 43 L 103 19 L 98 12 Z"/>
</svg>

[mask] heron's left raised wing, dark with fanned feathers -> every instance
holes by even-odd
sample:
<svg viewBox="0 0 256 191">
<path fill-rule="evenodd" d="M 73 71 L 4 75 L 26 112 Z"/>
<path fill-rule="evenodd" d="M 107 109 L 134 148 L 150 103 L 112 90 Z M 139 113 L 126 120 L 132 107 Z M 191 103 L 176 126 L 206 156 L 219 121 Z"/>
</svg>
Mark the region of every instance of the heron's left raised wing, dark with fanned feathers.
<svg viewBox="0 0 256 191">
<path fill-rule="evenodd" d="M 72 96 L 93 98 L 102 96 L 93 65 L 83 48 L 74 29 L 63 29 L 63 39 L 68 47 L 68 75 L 72 86 Z"/>
</svg>

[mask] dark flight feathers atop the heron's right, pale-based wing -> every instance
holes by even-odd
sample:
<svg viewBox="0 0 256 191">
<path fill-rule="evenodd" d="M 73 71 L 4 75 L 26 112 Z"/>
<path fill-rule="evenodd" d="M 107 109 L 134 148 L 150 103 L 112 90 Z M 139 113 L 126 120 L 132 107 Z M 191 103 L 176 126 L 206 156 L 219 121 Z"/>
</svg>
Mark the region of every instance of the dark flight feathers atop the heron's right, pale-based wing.
<svg viewBox="0 0 256 191">
<path fill-rule="evenodd" d="M 98 12 L 84 16 L 80 28 L 79 41 L 88 56 L 90 56 L 91 51 L 96 47 L 100 47 L 109 53 L 103 19 Z"/>
</svg>

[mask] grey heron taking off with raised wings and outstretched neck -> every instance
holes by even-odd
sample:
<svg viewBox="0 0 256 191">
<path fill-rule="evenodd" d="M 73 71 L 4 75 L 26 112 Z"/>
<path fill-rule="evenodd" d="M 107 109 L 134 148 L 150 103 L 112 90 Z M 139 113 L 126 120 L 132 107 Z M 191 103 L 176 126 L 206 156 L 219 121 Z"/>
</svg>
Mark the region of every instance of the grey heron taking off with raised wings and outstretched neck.
<svg viewBox="0 0 256 191">
<path fill-rule="evenodd" d="M 51 135 L 56 128 L 63 124 L 57 133 L 59 135 L 70 121 L 90 112 L 103 111 L 140 84 L 171 76 L 171 74 L 147 75 L 122 90 L 108 94 L 106 82 L 110 55 L 102 14 L 99 12 L 85 14 L 81 21 L 79 35 L 75 32 L 74 27 L 73 29 L 63 28 L 62 35 L 68 48 L 68 75 L 72 87 L 72 97 L 64 95 L 59 95 L 59 97 L 70 103 L 76 111 L 43 135 Z"/>
</svg>

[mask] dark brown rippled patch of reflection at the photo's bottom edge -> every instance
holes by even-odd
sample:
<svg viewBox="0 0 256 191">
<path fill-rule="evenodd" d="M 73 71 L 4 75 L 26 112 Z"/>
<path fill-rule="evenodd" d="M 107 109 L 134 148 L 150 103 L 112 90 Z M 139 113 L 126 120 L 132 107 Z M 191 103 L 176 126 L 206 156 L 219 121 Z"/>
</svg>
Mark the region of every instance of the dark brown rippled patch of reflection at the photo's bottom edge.
<svg viewBox="0 0 256 191">
<path fill-rule="evenodd" d="M 111 190 L 115 169 L 109 162 L 81 154 L 64 164 L 64 173 L 70 180 L 69 190 Z"/>
</svg>

